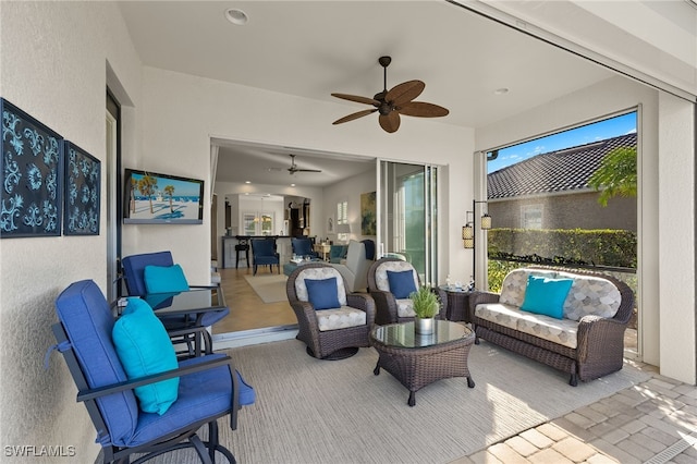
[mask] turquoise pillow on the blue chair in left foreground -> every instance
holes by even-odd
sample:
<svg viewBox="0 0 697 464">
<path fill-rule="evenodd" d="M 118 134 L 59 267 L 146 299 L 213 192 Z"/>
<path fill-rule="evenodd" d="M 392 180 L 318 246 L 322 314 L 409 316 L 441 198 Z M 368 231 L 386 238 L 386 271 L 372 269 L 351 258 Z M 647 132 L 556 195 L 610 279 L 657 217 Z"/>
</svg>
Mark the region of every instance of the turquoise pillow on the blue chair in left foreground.
<svg viewBox="0 0 697 464">
<path fill-rule="evenodd" d="M 111 338 L 129 379 L 176 369 L 176 353 L 160 319 L 143 300 L 131 297 Z M 135 388 L 139 407 L 162 415 L 176 401 L 179 377 Z"/>
</svg>

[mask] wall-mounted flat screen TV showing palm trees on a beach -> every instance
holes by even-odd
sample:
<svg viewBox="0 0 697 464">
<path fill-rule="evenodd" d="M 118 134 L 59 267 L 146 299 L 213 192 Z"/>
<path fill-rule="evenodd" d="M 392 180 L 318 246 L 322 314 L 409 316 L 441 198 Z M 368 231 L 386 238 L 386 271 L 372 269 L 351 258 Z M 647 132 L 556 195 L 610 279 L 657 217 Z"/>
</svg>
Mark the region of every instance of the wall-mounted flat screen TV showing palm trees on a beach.
<svg viewBox="0 0 697 464">
<path fill-rule="evenodd" d="M 200 224 L 204 181 L 126 169 L 123 183 L 126 224 Z"/>
</svg>

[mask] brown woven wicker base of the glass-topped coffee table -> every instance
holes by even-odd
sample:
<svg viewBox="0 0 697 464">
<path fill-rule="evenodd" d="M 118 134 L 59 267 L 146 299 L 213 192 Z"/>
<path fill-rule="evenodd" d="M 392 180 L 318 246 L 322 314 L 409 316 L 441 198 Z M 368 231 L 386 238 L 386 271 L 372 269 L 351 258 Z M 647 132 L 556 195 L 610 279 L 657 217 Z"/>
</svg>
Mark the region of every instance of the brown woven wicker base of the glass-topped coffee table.
<svg viewBox="0 0 697 464">
<path fill-rule="evenodd" d="M 380 368 L 398 379 L 409 390 L 407 404 L 416 404 L 416 392 L 437 380 L 451 377 L 466 377 L 467 387 L 474 388 L 475 382 L 467 368 L 467 356 L 475 341 L 474 333 L 450 343 L 421 347 L 401 349 L 375 343 L 380 357 L 372 374 L 380 374 Z"/>
</svg>

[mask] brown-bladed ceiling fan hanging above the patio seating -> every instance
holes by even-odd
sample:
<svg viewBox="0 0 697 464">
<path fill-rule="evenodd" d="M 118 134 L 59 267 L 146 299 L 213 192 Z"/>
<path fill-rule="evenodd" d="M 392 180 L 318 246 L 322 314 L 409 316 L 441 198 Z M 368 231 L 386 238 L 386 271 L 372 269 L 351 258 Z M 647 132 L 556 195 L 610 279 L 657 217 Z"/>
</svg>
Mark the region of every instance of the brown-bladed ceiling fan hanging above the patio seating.
<svg viewBox="0 0 697 464">
<path fill-rule="evenodd" d="M 388 91 L 388 66 L 391 62 L 391 57 L 380 57 L 378 60 L 378 63 L 380 63 L 384 70 L 384 85 L 383 90 L 376 94 L 372 98 L 347 94 L 331 94 L 332 97 L 372 105 L 375 107 L 374 109 L 358 111 L 338 119 L 333 124 L 353 121 L 354 119 L 379 111 L 378 122 L 380 123 L 380 127 L 386 132 L 393 133 L 400 129 L 400 114 L 418 118 L 440 118 L 448 115 L 450 111 L 448 111 L 447 108 L 424 101 L 413 101 L 421 95 L 421 91 L 424 91 L 426 87 L 426 84 L 421 81 L 407 81 L 392 87 Z"/>
</svg>

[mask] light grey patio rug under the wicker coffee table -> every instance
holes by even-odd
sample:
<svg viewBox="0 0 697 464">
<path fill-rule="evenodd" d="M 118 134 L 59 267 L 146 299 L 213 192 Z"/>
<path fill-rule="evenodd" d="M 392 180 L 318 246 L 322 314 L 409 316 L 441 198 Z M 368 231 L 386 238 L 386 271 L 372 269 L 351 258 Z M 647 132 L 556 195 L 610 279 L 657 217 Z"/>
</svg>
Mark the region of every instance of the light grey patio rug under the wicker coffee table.
<svg viewBox="0 0 697 464">
<path fill-rule="evenodd" d="M 591 382 L 488 344 L 473 346 L 476 382 L 441 380 L 416 393 L 360 349 L 343 361 L 318 361 L 297 340 L 230 350 L 257 402 L 240 411 L 221 442 L 240 463 L 448 463 L 563 416 L 649 376 L 626 366 Z"/>
</svg>

